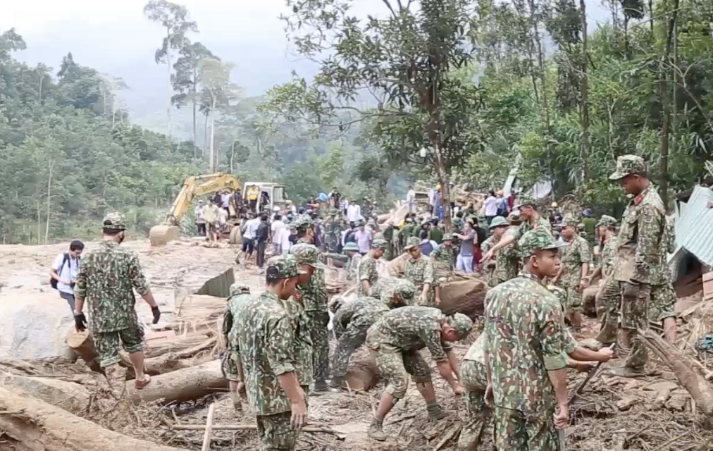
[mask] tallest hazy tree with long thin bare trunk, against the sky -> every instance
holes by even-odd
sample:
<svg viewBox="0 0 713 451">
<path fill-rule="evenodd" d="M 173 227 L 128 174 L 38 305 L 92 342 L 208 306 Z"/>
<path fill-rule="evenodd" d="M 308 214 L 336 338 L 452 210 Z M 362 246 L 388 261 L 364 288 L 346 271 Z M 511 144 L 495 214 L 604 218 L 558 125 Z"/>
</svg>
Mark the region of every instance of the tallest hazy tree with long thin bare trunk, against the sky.
<svg viewBox="0 0 713 451">
<path fill-rule="evenodd" d="M 188 9 L 183 5 L 166 0 L 152 0 L 143 7 L 143 14 L 150 21 L 158 22 L 166 31 L 163 44 L 156 50 L 154 59 L 157 64 L 166 65 L 166 113 L 168 114 L 168 140 L 171 138 L 171 50 L 181 49 L 186 45 L 186 34 L 198 31 L 198 26 L 190 20 Z"/>
</svg>

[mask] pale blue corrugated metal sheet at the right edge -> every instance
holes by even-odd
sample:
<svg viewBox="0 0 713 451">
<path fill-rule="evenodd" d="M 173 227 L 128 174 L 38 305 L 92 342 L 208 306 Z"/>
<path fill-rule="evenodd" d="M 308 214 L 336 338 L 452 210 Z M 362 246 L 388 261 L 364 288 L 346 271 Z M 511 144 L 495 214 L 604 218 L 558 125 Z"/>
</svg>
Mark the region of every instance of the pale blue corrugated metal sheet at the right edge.
<svg viewBox="0 0 713 451">
<path fill-rule="evenodd" d="M 676 221 L 676 245 L 713 266 L 713 191 L 697 186 Z"/>
</svg>

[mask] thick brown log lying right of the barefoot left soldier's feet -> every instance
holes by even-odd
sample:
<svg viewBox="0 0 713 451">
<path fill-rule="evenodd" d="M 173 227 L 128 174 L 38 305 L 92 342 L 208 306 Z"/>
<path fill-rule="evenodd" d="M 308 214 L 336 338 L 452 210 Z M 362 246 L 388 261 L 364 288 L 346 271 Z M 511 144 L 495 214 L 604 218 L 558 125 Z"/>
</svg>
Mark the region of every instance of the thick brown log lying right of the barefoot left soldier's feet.
<svg viewBox="0 0 713 451">
<path fill-rule="evenodd" d="M 190 401 L 226 389 L 227 380 L 220 371 L 220 360 L 152 377 L 142 390 L 136 390 L 133 380 L 126 382 L 128 398 L 135 404 L 161 399 L 164 402 Z"/>
</svg>

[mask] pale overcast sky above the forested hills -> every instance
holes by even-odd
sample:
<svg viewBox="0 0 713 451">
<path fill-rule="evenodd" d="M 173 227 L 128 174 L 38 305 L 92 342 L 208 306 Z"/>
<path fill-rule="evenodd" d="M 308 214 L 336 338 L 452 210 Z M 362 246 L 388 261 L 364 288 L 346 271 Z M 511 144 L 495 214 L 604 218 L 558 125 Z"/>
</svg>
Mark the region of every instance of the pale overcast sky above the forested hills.
<svg viewBox="0 0 713 451">
<path fill-rule="evenodd" d="M 165 66 L 153 61 L 163 39 L 159 24 L 143 15 L 145 0 L 4 0 L 0 31 L 14 27 L 28 49 L 18 57 L 29 64 L 42 62 L 56 70 L 62 56 L 72 52 L 79 64 L 122 77 L 130 91 L 124 97 L 138 116 L 165 99 Z M 259 95 L 289 80 L 295 69 L 314 69 L 288 54 L 279 14 L 284 0 L 178 0 L 198 22 L 200 41 L 220 58 L 235 64 L 233 78 L 248 95 Z M 381 0 L 356 2 L 359 16 L 382 14 Z M 607 14 L 600 0 L 588 0 L 592 25 Z M 165 104 L 165 103 L 163 103 Z"/>
</svg>

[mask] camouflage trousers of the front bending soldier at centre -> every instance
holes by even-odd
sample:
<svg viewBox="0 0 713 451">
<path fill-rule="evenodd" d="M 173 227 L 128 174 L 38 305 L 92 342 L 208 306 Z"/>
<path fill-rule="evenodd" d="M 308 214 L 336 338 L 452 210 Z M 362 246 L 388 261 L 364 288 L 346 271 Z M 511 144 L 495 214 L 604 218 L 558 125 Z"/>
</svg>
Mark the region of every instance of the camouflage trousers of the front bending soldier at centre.
<svg viewBox="0 0 713 451">
<path fill-rule="evenodd" d="M 409 375 L 416 383 L 431 382 L 431 369 L 419 351 L 402 351 L 391 345 L 379 345 L 378 349 L 370 347 L 369 353 L 376 360 L 381 377 L 388 381 L 384 392 L 397 400 L 406 396 L 406 390 L 409 390 Z"/>
</svg>

